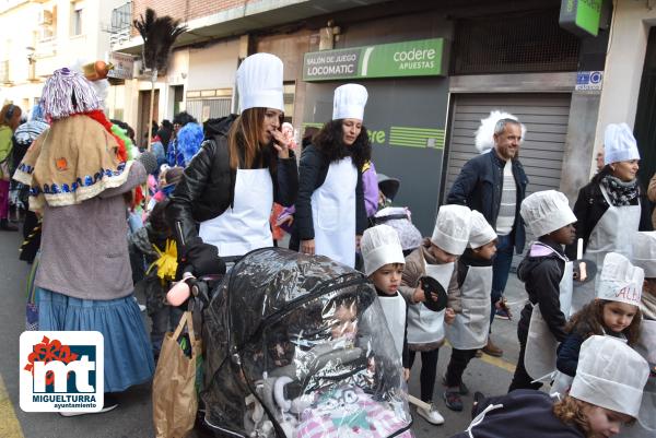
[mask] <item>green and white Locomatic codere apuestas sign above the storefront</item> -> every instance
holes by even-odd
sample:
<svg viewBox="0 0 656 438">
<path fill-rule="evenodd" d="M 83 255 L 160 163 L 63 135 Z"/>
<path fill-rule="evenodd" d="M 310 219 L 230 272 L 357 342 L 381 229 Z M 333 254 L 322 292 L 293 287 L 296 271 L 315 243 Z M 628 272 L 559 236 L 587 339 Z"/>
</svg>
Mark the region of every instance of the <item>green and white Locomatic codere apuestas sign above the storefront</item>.
<svg viewBox="0 0 656 438">
<path fill-rule="evenodd" d="M 313 51 L 303 58 L 303 80 L 441 76 L 445 60 L 444 38 Z"/>
</svg>

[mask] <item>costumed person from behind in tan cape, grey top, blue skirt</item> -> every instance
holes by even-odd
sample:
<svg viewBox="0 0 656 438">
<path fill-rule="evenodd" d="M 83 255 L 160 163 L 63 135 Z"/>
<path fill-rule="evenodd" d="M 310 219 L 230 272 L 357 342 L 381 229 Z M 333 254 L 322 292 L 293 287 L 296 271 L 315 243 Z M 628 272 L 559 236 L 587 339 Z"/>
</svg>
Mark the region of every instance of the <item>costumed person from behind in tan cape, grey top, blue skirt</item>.
<svg viewBox="0 0 656 438">
<path fill-rule="evenodd" d="M 30 209 L 43 214 L 39 329 L 103 333 L 105 391 L 122 391 L 154 371 L 126 241 L 126 198 L 145 181 L 145 170 L 128 159 L 80 73 L 55 71 L 42 105 L 51 126 L 14 175 L 31 187 Z"/>
</svg>

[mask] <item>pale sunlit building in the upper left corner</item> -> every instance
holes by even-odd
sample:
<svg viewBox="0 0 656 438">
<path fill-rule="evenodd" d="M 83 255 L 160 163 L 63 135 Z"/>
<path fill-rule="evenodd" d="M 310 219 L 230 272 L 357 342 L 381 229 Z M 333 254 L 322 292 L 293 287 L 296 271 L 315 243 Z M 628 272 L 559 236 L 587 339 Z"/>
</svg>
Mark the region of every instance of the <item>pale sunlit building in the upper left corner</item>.
<svg viewBox="0 0 656 438">
<path fill-rule="evenodd" d="M 25 111 L 61 67 L 106 60 L 117 0 L 4 0 L 0 3 L 0 103 Z"/>
</svg>

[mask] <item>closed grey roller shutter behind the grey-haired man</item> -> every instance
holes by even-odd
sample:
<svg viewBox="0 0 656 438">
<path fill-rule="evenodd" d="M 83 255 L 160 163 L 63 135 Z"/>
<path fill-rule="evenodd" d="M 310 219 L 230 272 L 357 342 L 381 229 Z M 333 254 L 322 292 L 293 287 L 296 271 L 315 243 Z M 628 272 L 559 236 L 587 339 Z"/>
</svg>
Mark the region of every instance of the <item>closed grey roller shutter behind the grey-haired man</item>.
<svg viewBox="0 0 656 438">
<path fill-rule="evenodd" d="M 526 126 L 519 159 L 528 176 L 527 194 L 560 187 L 570 94 L 458 94 L 455 95 L 447 145 L 447 173 L 443 200 L 468 159 L 478 155 L 473 145 L 480 120 L 500 109 Z M 527 229 L 527 244 L 534 238 Z"/>
</svg>

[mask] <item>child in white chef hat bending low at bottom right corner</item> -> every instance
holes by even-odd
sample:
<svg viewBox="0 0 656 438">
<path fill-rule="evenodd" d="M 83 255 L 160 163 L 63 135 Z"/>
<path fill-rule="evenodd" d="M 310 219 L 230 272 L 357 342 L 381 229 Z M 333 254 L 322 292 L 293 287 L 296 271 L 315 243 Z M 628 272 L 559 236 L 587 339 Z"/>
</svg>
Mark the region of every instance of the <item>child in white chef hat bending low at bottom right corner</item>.
<svg viewBox="0 0 656 438">
<path fill-rule="evenodd" d="M 541 391 L 517 390 L 479 398 L 472 413 L 476 418 L 453 438 L 611 437 L 639 418 L 648 375 L 647 363 L 630 346 L 594 335 L 581 346 L 567 395 L 558 400 Z"/>
</svg>

